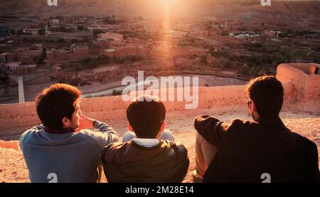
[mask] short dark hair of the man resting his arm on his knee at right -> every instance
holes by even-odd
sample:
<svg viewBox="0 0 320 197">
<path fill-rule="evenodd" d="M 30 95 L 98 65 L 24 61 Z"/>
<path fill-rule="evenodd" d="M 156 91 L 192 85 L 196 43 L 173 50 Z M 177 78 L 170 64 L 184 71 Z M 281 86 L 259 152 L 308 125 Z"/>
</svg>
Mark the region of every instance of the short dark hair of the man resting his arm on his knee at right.
<svg viewBox="0 0 320 197">
<path fill-rule="evenodd" d="M 283 86 L 273 76 L 250 80 L 245 94 L 255 103 L 259 116 L 279 116 L 283 103 Z"/>
</svg>

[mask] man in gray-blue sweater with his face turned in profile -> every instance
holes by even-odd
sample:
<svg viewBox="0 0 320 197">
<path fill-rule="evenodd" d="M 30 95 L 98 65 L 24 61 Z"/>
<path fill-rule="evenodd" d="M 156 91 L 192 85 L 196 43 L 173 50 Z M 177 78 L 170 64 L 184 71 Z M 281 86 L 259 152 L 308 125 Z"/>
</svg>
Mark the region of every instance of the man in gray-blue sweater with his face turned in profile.
<svg viewBox="0 0 320 197">
<path fill-rule="evenodd" d="M 37 96 L 43 125 L 20 138 L 31 182 L 100 181 L 100 152 L 118 135 L 109 125 L 82 116 L 80 95 L 74 86 L 53 84 Z"/>
</svg>

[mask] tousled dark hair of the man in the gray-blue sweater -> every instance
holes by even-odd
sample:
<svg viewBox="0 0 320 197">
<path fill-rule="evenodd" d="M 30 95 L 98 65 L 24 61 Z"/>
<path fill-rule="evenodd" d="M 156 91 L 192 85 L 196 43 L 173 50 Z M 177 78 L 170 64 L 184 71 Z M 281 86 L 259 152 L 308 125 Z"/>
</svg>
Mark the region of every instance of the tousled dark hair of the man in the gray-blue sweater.
<svg viewBox="0 0 320 197">
<path fill-rule="evenodd" d="M 80 96 L 81 91 L 68 84 L 53 84 L 44 89 L 36 97 L 37 113 L 43 126 L 50 129 L 63 128 L 62 119 L 72 118 L 75 101 Z"/>
</svg>

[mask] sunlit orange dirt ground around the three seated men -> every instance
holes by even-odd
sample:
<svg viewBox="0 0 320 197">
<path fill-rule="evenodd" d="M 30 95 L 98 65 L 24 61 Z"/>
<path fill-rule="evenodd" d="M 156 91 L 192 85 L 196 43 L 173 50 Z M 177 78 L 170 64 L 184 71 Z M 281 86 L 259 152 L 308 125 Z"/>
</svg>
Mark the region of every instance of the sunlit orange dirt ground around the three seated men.
<svg viewBox="0 0 320 197">
<path fill-rule="evenodd" d="M 247 110 L 242 107 L 233 106 L 230 110 L 225 108 L 199 109 L 198 111 L 169 112 L 166 123 L 169 130 L 174 133 L 176 142 L 183 144 L 188 149 L 190 166 L 188 174 L 183 182 L 192 182 L 191 172 L 195 167 L 195 140 L 196 131 L 193 129 L 193 119 L 200 114 L 211 114 L 219 120 L 229 122 L 232 118 L 251 120 Z M 316 143 L 320 154 L 320 116 L 311 113 L 297 113 L 284 109 L 280 114 L 284 124 L 292 131 L 308 137 Z M 119 135 L 123 135 L 127 128 L 125 121 L 121 124 L 114 124 L 113 127 Z M 15 139 L 18 140 L 19 136 Z M 18 141 L 11 144 L 1 145 L 0 142 L 0 182 L 29 182 L 28 169 L 23 159 L 21 150 L 18 150 Z M 320 163 L 320 162 L 319 162 Z M 102 176 L 102 182 L 106 182 Z"/>
</svg>

